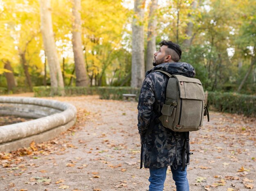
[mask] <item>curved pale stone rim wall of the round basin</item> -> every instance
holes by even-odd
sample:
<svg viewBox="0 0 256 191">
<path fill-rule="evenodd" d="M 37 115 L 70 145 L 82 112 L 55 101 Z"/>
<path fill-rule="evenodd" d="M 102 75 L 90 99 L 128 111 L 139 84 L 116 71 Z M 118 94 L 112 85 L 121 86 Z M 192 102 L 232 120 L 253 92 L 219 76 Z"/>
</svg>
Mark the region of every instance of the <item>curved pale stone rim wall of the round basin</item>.
<svg viewBox="0 0 256 191">
<path fill-rule="evenodd" d="M 74 105 L 49 99 L 0 96 L 0 115 L 34 120 L 0 126 L 0 151 L 9 152 L 56 137 L 76 122 Z"/>
</svg>

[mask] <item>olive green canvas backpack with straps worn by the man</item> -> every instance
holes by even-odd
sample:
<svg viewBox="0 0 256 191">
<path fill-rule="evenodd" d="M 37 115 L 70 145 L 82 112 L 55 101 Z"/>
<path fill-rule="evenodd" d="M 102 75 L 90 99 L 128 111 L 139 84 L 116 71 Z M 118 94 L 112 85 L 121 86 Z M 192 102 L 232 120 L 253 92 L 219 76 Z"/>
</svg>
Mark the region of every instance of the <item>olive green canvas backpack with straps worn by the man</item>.
<svg viewBox="0 0 256 191">
<path fill-rule="evenodd" d="M 198 131 L 203 125 L 204 116 L 209 112 L 205 101 L 204 89 L 199 79 L 182 75 L 170 75 L 166 87 L 166 100 L 162 107 L 159 120 L 163 126 L 174 132 L 184 132 L 184 148 L 182 150 L 182 171 L 189 165 L 190 152 L 189 132 Z M 186 158 L 185 158 L 186 157 Z"/>
</svg>

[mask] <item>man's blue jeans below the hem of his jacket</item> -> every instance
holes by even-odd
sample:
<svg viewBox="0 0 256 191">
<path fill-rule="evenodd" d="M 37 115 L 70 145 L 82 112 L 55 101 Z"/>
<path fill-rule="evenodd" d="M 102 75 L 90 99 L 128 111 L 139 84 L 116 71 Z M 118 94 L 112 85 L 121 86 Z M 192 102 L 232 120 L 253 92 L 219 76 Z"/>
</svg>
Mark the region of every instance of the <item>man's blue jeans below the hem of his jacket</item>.
<svg viewBox="0 0 256 191">
<path fill-rule="evenodd" d="M 175 181 L 177 191 L 189 191 L 189 181 L 186 178 L 186 168 L 184 171 L 181 171 L 182 166 L 177 166 L 177 169 L 174 169 L 171 166 L 171 171 L 173 174 L 173 180 Z M 149 191 L 163 191 L 164 181 L 166 178 L 167 167 L 162 168 L 150 168 L 150 177 L 149 177 Z"/>
</svg>

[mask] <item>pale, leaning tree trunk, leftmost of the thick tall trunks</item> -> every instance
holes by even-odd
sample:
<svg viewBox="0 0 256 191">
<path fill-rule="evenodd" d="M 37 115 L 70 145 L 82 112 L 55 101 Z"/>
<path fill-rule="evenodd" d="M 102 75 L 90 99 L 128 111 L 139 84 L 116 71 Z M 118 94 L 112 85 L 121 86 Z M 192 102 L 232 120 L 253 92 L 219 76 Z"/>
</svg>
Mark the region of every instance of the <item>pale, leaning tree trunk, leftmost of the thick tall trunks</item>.
<svg viewBox="0 0 256 191">
<path fill-rule="evenodd" d="M 64 88 L 63 77 L 61 74 L 61 66 L 58 62 L 58 55 L 54 40 L 54 33 L 52 29 L 52 15 L 50 0 L 39 0 L 40 3 L 40 18 L 41 18 L 41 32 L 43 35 L 43 44 L 47 60 L 49 64 L 51 87 Z M 55 92 L 52 92 L 55 93 Z M 61 90 L 61 94 L 64 95 L 64 89 Z"/>
</svg>

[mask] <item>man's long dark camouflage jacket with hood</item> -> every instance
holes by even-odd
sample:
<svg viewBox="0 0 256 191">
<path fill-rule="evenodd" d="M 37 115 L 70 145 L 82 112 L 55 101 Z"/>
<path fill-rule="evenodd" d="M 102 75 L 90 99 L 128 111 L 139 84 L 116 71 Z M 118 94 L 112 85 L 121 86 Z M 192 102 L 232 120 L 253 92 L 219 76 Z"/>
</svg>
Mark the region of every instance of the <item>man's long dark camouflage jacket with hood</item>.
<svg viewBox="0 0 256 191">
<path fill-rule="evenodd" d="M 146 72 L 138 103 L 138 130 L 141 136 L 141 151 L 145 168 L 182 164 L 184 137 L 173 132 L 156 119 L 166 98 L 168 77 L 161 72 L 195 77 L 195 69 L 185 62 L 163 63 Z"/>
</svg>

